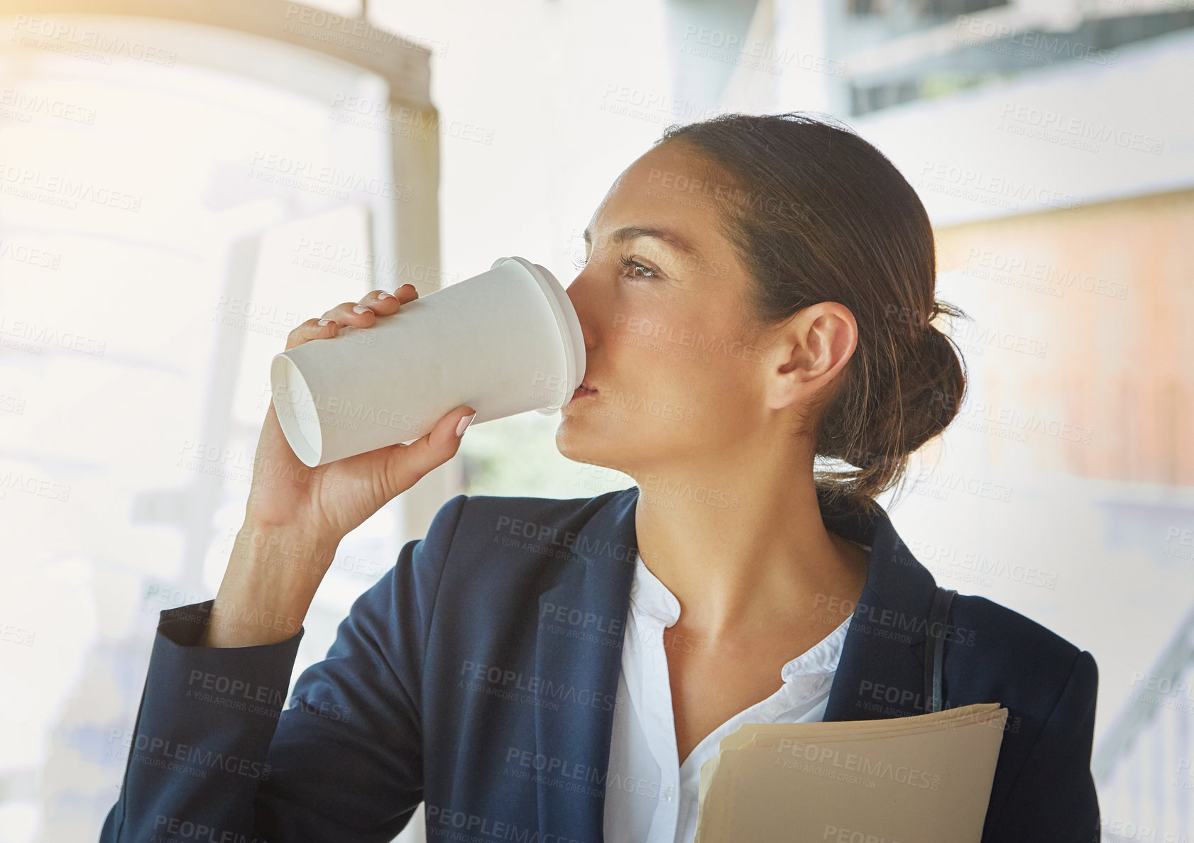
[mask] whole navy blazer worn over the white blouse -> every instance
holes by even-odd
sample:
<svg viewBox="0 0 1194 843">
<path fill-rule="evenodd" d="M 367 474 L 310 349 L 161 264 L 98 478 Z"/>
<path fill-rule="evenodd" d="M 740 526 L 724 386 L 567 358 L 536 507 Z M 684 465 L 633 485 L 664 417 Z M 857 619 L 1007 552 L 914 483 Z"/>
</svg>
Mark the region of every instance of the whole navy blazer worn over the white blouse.
<svg viewBox="0 0 1194 843">
<path fill-rule="evenodd" d="M 638 494 L 454 497 L 284 710 L 302 629 L 198 647 L 211 601 L 162 611 L 100 843 L 383 843 L 420 801 L 429 838 L 599 843 Z M 872 547 L 825 720 L 924 713 L 933 574 L 882 510 L 820 503 Z M 955 597 L 946 707 L 1008 708 L 983 843 L 1097 842 L 1096 684 L 1089 652 Z"/>
</svg>

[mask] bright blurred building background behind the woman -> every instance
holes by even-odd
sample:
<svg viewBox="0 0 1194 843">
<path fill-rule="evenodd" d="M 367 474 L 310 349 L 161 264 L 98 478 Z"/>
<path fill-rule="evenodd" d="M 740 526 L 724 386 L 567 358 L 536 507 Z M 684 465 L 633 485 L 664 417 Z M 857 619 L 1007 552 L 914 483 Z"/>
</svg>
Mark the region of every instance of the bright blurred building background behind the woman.
<svg viewBox="0 0 1194 843">
<path fill-rule="evenodd" d="M 790 110 L 900 168 L 972 318 L 880 503 L 1094 653 L 1103 839 L 1194 839 L 1192 80 L 1194 0 L 0 0 L 0 843 L 98 836 L 295 325 L 503 256 L 566 285 L 664 127 Z M 633 485 L 556 423 L 472 427 L 350 535 L 294 675 L 449 497 Z"/>
</svg>

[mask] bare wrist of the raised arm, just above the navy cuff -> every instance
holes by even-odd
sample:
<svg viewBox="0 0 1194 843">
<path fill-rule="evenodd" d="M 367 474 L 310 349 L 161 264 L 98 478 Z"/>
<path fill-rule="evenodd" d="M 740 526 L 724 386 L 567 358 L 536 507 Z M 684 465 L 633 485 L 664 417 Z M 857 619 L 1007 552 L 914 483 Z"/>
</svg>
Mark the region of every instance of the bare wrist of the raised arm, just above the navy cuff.
<svg viewBox="0 0 1194 843">
<path fill-rule="evenodd" d="M 338 546 L 300 528 L 246 522 L 199 645 L 248 647 L 296 635 Z"/>
</svg>

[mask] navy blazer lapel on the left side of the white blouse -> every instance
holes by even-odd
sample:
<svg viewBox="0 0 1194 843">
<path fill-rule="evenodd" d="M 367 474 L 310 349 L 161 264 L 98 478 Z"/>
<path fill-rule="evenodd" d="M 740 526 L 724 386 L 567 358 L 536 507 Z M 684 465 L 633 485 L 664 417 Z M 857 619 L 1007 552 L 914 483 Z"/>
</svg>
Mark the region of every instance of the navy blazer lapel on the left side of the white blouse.
<svg viewBox="0 0 1194 843">
<path fill-rule="evenodd" d="M 541 683 L 540 696 L 559 701 L 558 707 L 550 702 L 535 706 L 535 751 L 548 765 L 536 779 L 541 835 L 602 839 L 622 632 L 638 552 L 638 492 L 635 486 L 614 494 L 589 519 L 577 533 L 571 555 L 561 562 L 556 583 L 538 597 L 540 619 L 565 607 L 567 611 L 585 613 L 586 623 L 578 632 L 593 627 L 618 630 L 617 646 L 607 646 L 559 635 L 544 623 L 538 624 L 535 676 Z M 592 623 L 587 623 L 589 619 Z M 614 622 L 616 627 L 611 627 Z M 565 773 L 565 781 L 580 787 L 565 789 L 543 782 L 561 769 L 571 770 Z"/>
</svg>

